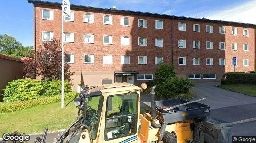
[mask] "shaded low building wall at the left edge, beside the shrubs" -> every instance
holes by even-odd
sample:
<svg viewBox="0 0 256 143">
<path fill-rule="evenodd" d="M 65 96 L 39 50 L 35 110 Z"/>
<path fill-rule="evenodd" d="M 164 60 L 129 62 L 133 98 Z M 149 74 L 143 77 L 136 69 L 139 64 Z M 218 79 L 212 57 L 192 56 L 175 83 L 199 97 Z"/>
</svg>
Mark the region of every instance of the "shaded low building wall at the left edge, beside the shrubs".
<svg viewBox="0 0 256 143">
<path fill-rule="evenodd" d="M 22 78 L 23 62 L 13 61 L 0 57 L 0 101 L 2 101 L 2 89 L 8 82 Z"/>
</svg>

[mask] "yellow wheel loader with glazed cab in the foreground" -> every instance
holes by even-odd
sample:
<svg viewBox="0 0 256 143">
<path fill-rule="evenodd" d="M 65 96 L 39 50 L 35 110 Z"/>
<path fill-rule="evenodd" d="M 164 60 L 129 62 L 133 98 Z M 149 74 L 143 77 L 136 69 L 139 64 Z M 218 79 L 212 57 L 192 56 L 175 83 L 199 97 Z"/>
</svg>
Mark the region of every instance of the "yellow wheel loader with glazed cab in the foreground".
<svg viewBox="0 0 256 143">
<path fill-rule="evenodd" d="M 210 107 L 182 99 L 144 103 L 147 88 L 128 83 L 104 84 L 86 89 L 75 99 L 78 118 L 54 143 L 226 143 L 231 123 L 209 118 Z M 61 122 L 61 121 L 60 121 Z M 45 133 L 35 143 L 45 143 Z"/>
</svg>

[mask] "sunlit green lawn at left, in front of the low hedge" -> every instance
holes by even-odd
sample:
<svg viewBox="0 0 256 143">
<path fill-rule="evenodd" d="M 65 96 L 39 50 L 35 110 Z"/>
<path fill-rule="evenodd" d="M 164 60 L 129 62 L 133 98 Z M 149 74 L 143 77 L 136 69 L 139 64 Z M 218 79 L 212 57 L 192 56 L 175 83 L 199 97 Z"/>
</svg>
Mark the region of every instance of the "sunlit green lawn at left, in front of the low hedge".
<svg viewBox="0 0 256 143">
<path fill-rule="evenodd" d="M 65 101 L 65 105 L 70 101 Z M 43 132 L 45 127 L 49 131 L 65 129 L 77 117 L 77 108 L 73 100 L 65 108 L 61 103 L 38 105 L 32 108 L 0 113 L 0 134 L 12 133 L 38 133 Z"/>
</svg>

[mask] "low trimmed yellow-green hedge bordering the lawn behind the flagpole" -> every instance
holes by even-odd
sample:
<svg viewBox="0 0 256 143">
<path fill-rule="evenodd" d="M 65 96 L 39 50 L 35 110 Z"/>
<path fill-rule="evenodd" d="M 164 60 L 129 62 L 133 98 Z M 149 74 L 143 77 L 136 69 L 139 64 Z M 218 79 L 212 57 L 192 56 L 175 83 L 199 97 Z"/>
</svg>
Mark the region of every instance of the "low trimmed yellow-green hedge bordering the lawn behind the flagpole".
<svg viewBox="0 0 256 143">
<path fill-rule="evenodd" d="M 65 93 L 65 100 L 72 100 L 77 97 L 77 92 Z M 38 97 L 28 101 L 0 102 L 0 113 L 23 110 L 36 105 L 45 105 L 61 101 L 61 96 Z"/>
</svg>

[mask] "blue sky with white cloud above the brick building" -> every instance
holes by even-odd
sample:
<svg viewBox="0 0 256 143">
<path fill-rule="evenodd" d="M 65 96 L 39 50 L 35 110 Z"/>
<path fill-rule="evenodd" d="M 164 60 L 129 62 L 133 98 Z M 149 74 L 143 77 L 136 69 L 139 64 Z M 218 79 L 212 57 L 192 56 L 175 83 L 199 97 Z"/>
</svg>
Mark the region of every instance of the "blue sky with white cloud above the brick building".
<svg viewBox="0 0 256 143">
<path fill-rule="evenodd" d="M 70 3 L 256 24 L 256 0 L 70 0 Z M 15 37 L 24 46 L 33 46 L 33 4 L 27 0 L 3 0 L 0 5 L 2 34 Z"/>
</svg>

